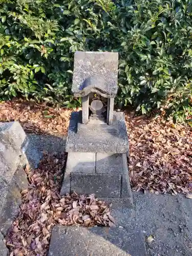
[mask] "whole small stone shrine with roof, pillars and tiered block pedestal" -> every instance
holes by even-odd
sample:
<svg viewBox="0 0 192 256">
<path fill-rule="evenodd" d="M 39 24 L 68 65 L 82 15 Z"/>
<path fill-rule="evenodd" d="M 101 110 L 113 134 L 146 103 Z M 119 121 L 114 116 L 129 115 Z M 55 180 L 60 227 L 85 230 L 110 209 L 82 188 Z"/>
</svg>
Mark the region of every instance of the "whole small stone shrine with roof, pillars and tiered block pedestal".
<svg viewBox="0 0 192 256">
<path fill-rule="evenodd" d="M 71 116 L 61 195 L 131 200 L 124 114 L 114 111 L 117 77 L 118 53 L 75 53 L 72 91 L 82 98 L 82 111 Z"/>
</svg>

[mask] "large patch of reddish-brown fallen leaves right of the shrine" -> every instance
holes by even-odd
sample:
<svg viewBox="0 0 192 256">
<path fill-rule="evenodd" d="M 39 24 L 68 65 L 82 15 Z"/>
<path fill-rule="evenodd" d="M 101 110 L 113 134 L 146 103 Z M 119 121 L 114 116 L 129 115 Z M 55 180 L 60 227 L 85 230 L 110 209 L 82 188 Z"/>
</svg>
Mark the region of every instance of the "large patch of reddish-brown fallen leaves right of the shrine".
<svg viewBox="0 0 192 256">
<path fill-rule="evenodd" d="M 192 192 L 192 130 L 162 117 L 126 116 L 132 189 L 152 193 Z M 189 196 L 188 196 L 189 197 Z"/>
</svg>

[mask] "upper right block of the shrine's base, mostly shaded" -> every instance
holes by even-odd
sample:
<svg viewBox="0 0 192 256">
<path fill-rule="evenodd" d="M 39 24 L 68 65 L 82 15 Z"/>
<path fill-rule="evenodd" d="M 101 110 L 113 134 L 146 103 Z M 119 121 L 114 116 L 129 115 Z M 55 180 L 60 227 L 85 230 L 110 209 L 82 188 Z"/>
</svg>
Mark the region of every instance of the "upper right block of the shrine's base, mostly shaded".
<svg viewBox="0 0 192 256">
<path fill-rule="evenodd" d="M 96 173 L 124 174 L 123 154 L 96 153 Z"/>
</svg>

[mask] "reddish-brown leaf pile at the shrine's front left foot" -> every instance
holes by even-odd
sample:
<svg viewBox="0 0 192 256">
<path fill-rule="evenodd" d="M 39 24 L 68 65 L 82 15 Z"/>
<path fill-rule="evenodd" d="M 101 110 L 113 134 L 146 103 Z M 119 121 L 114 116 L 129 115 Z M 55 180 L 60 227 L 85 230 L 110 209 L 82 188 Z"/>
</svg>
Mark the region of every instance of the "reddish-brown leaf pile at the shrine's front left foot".
<svg viewBox="0 0 192 256">
<path fill-rule="evenodd" d="M 65 156 L 45 154 L 37 169 L 26 172 L 29 187 L 22 191 L 18 217 L 7 234 L 10 256 L 47 255 L 54 225 L 113 226 L 110 208 L 94 195 L 58 193 Z"/>
</svg>

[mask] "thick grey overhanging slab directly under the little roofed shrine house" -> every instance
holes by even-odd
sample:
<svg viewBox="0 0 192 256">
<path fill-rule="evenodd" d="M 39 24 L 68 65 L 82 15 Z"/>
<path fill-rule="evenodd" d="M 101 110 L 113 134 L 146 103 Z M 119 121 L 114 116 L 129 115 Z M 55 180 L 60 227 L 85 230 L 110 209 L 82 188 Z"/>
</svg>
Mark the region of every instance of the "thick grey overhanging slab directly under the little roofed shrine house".
<svg viewBox="0 0 192 256">
<path fill-rule="evenodd" d="M 70 119 L 66 152 L 95 152 L 95 153 L 126 153 L 129 151 L 129 142 L 124 119 L 124 113 L 114 112 L 113 125 L 117 133 L 110 133 L 108 129 L 101 129 L 101 125 L 94 125 L 94 129 L 85 124 L 84 132 L 77 133 L 80 112 L 73 112 Z M 111 126 L 111 125 L 108 125 Z"/>
</svg>

